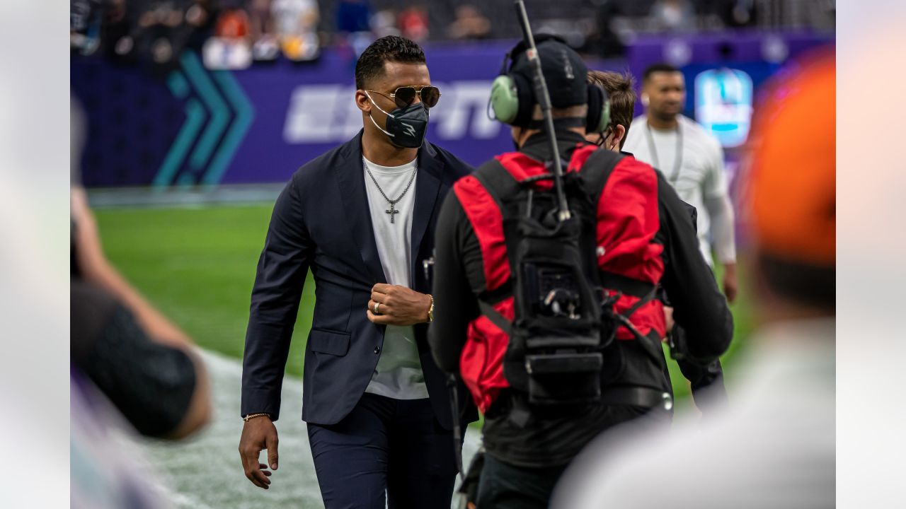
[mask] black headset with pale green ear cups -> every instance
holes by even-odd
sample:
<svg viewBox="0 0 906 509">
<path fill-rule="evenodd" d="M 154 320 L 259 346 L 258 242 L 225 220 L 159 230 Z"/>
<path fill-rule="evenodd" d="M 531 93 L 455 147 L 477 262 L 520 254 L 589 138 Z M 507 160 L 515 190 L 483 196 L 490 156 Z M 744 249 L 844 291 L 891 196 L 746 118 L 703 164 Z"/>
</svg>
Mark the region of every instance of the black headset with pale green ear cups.
<svg viewBox="0 0 906 509">
<path fill-rule="evenodd" d="M 563 38 L 551 34 L 535 36 L 535 45 L 554 40 L 566 43 Z M 525 52 L 525 42 L 516 44 L 504 57 L 500 74 L 491 83 L 490 108 L 496 120 L 517 127 L 528 127 L 532 123 L 535 101 L 532 97 L 532 83 L 522 74 L 509 72 L 516 56 Z M 610 124 L 610 101 L 607 92 L 593 84 L 588 85 L 588 115 L 585 121 L 587 132 L 601 133 Z"/>
</svg>

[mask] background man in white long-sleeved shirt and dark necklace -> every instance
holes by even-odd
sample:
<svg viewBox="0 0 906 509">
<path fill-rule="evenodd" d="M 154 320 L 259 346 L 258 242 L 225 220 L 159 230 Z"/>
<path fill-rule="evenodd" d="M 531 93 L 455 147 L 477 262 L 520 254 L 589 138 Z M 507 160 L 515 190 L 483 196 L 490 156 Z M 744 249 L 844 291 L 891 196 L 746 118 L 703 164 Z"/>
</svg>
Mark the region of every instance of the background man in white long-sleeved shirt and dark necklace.
<svg viewBox="0 0 906 509">
<path fill-rule="evenodd" d="M 679 197 L 698 210 L 701 254 L 713 267 L 714 250 L 724 266 L 724 294 L 732 303 L 737 294 L 736 241 L 723 149 L 699 124 L 682 115 L 686 83 L 675 67 L 655 64 L 645 71 L 641 103 L 645 115 L 632 122 L 634 129 L 627 134 L 624 149 L 660 169 Z"/>
</svg>

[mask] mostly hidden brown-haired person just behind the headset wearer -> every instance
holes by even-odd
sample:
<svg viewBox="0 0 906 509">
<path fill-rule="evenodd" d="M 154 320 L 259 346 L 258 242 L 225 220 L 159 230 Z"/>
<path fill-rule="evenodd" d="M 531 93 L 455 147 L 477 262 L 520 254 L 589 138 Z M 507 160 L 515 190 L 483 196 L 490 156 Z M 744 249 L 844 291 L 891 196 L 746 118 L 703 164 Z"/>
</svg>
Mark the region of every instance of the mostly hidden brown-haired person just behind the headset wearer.
<svg viewBox="0 0 906 509">
<path fill-rule="evenodd" d="M 619 72 L 589 71 L 588 82 L 598 85 L 607 92 L 611 102 L 611 121 L 607 129 L 601 133 L 586 133 L 585 140 L 604 149 L 622 152 L 626 143 L 632 123 L 632 112 L 635 109 L 635 91 L 633 91 L 632 75 Z M 628 156 L 632 154 L 622 152 Z M 664 174 L 655 168 L 660 186 L 668 185 Z M 693 224 L 696 222 L 698 211 L 694 206 L 687 205 Z M 689 380 L 692 389 L 692 398 L 696 408 L 706 411 L 710 408 L 719 408 L 727 403 L 727 389 L 724 387 L 724 372 L 720 360 L 715 359 L 708 364 L 701 364 L 686 356 L 686 334 L 680 327 L 673 323 L 673 308 L 669 306 L 670 300 L 666 294 L 661 294 L 664 301 L 664 312 L 667 317 L 667 333 L 670 335 L 670 350 L 676 358 L 679 370 Z M 669 375 L 669 373 L 668 373 Z"/>
</svg>

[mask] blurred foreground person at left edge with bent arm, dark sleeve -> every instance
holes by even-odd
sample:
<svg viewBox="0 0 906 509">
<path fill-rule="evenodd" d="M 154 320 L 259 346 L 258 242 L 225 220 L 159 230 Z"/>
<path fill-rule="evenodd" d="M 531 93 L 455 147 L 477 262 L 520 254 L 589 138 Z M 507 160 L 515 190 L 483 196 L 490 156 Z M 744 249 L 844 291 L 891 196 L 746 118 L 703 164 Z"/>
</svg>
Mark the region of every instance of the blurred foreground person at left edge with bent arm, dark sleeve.
<svg viewBox="0 0 906 509">
<path fill-rule="evenodd" d="M 70 121 L 74 182 L 85 128 L 74 101 Z M 73 184 L 70 196 L 71 505 L 168 507 L 129 438 L 178 439 L 204 427 L 207 370 L 188 336 L 107 260 L 84 189 Z"/>
</svg>

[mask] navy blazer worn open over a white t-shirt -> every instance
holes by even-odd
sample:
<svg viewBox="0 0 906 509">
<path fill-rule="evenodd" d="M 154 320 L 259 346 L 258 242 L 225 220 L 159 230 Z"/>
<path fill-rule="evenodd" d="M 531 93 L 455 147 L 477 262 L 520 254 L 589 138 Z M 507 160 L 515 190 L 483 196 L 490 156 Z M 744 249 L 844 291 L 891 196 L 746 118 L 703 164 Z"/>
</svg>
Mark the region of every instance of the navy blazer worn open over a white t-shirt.
<svg viewBox="0 0 906 509">
<path fill-rule="evenodd" d="M 425 142 L 419 149 L 412 217 L 412 289 L 429 293 L 423 261 L 450 187 L 473 168 Z M 258 260 L 246 331 L 242 415 L 280 415 L 280 390 L 305 276 L 314 277 L 314 318 L 305 346 L 302 418 L 339 422 L 355 407 L 377 366 L 385 326 L 365 314 L 375 283 L 386 283 L 371 227 L 361 162 L 361 131 L 299 168 L 274 206 Z M 442 312 L 442 310 L 438 310 Z M 415 326 L 421 368 L 440 424 L 451 427 L 446 379 L 431 357 L 427 324 Z M 459 394 L 467 395 L 464 387 Z M 460 400 L 468 398 L 460 397 Z M 470 403 L 470 402 L 469 402 Z M 463 401 L 461 415 L 475 420 Z"/>
</svg>

